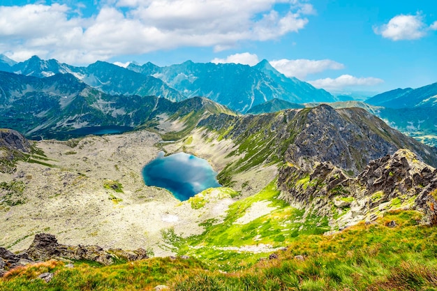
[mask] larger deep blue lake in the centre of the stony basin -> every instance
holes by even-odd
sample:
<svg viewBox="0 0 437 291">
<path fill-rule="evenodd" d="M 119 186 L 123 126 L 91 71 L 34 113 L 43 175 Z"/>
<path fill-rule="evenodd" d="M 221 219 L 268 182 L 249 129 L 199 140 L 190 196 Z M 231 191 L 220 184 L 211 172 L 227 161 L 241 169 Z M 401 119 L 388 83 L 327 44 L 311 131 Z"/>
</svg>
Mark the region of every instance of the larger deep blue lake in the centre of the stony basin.
<svg viewBox="0 0 437 291">
<path fill-rule="evenodd" d="M 142 169 L 147 186 L 165 188 L 181 201 L 207 188 L 220 187 L 216 176 L 206 160 L 185 153 L 164 156 L 161 151 Z"/>
</svg>

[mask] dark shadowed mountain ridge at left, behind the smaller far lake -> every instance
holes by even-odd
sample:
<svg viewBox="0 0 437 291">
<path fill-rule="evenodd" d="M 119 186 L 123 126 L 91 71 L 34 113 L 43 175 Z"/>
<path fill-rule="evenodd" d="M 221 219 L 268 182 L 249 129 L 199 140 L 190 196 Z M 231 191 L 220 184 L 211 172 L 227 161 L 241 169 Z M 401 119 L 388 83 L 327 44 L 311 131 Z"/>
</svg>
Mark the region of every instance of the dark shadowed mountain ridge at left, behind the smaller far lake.
<svg viewBox="0 0 437 291">
<path fill-rule="evenodd" d="M 68 136 L 71 130 L 91 126 L 134 128 L 159 114 L 177 120 L 192 111 L 197 114 L 191 119 L 194 125 L 203 114 L 235 114 L 199 97 L 173 103 L 156 96 L 105 94 L 71 74 L 38 78 L 0 72 L 0 127 L 19 130 L 27 137 Z"/>
</svg>

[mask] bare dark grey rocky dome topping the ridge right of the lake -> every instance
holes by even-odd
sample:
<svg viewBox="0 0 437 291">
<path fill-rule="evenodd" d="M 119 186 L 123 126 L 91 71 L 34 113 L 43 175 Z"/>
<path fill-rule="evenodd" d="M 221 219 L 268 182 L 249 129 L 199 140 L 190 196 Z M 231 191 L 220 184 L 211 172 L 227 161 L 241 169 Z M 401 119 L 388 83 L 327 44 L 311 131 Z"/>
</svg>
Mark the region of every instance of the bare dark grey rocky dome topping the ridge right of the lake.
<svg viewBox="0 0 437 291">
<path fill-rule="evenodd" d="M 366 114 L 364 110 L 355 111 Z M 380 153 L 392 154 L 396 150 L 393 144 L 362 121 L 350 122 L 348 114 L 354 112 L 341 113 L 329 105 L 318 105 L 308 110 L 297 125 L 298 134 L 286 153 L 287 159 L 332 161 L 337 167 L 357 173 L 369 161 L 379 158 Z"/>
</svg>

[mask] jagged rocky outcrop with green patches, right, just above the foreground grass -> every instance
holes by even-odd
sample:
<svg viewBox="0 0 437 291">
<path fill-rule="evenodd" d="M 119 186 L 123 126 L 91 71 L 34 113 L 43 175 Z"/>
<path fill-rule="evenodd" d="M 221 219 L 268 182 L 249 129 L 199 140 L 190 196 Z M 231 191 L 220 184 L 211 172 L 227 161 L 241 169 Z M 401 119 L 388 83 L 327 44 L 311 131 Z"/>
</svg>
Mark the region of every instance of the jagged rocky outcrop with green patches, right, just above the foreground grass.
<svg viewBox="0 0 437 291">
<path fill-rule="evenodd" d="M 328 162 L 309 167 L 288 163 L 280 170 L 280 198 L 331 217 L 333 226 L 372 221 L 389 209 L 406 208 L 424 212 L 423 223 L 436 224 L 437 170 L 411 151 L 399 149 L 371 161 L 355 178 Z"/>
</svg>

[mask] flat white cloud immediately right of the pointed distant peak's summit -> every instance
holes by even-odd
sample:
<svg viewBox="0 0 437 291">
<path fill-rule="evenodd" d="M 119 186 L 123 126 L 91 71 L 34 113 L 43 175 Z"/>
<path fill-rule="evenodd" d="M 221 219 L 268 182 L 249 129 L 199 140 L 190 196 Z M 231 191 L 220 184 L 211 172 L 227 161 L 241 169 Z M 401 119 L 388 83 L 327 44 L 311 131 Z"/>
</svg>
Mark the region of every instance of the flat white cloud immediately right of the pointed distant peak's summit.
<svg viewBox="0 0 437 291">
<path fill-rule="evenodd" d="M 297 77 L 298 79 L 304 79 L 306 75 L 320 73 L 324 70 L 341 70 L 344 68 L 343 64 L 330 59 L 280 59 L 270 61 L 270 64 L 287 77 Z"/>
</svg>

